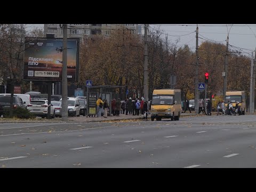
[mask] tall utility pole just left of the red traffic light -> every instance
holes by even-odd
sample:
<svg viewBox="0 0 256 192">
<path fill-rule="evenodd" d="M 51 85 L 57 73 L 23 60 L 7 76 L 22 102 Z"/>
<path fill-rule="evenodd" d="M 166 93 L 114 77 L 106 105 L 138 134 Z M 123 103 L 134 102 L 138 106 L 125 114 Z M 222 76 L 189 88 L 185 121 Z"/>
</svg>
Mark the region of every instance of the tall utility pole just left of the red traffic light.
<svg viewBox="0 0 256 192">
<path fill-rule="evenodd" d="M 198 114 L 199 109 L 199 93 L 198 93 L 198 25 L 196 25 L 196 74 L 195 74 L 195 113 Z"/>
</svg>

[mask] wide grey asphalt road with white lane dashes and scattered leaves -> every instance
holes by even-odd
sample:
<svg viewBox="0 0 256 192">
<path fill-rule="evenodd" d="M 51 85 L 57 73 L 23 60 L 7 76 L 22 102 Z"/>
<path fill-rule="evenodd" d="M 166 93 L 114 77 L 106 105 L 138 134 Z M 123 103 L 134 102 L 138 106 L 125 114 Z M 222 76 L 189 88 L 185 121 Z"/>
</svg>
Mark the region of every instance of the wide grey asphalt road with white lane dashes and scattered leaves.
<svg viewBox="0 0 256 192">
<path fill-rule="evenodd" d="M 0 124 L 0 167 L 255 167 L 256 116 Z"/>
</svg>

